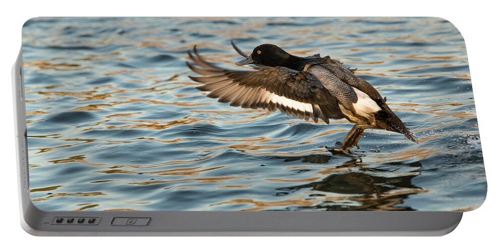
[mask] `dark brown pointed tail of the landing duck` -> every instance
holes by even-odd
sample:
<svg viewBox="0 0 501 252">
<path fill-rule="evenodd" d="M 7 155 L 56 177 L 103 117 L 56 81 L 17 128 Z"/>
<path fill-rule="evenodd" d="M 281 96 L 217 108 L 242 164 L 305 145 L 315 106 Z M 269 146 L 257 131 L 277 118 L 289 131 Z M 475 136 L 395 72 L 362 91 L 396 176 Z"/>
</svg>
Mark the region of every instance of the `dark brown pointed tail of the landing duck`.
<svg viewBox="0 0 501 252">
<path fill-rule="evenodd" d="M 401 133 L 412 142 L 419 143 L 414 133 L 405 127 L 404 122 L 389 107 L 376 113 L 376 129 Z"/>
</svg>

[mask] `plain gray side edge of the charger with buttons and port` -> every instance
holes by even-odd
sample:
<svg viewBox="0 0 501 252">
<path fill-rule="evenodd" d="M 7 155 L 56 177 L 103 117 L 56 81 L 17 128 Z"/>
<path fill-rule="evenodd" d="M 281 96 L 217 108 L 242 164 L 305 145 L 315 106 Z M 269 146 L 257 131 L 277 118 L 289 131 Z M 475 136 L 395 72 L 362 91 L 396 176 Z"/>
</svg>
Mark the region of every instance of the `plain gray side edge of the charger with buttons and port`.
<svg viewBox="0 0 501 252">
<path fill-rule="evenodd" d="M 12 69 L 21 226 L 36 236 L 440 236 L 458 211 L 42 211 L 31 201 L 22 50 Z M 55 218 L 98 218 L 98 224 L 54 224 Z M 149 218 L 112 225 L 114 218 Z"/>
</svg>

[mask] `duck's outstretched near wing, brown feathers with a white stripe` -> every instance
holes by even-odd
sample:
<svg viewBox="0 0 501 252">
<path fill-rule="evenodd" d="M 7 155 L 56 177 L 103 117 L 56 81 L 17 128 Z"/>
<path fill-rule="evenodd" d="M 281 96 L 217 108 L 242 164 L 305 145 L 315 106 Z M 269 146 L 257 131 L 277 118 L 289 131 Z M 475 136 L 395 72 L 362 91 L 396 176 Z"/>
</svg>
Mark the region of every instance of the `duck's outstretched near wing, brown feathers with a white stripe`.
<svg viewBox="0 0 501 252">
<path fill-rule="evenodd" d="M 264 108 L 280 111 L 298 118 L 329 123 L 329 118 L 344 118 L 337 100 L 313 75 L 284 67 L 265 67 L 257 71 L 232 71 L 216 67 L 198 55 L 196 47 L 188 52 L 197 65 L 187 62 L 193 72 L 202 76 L 189 76 L 203 83 L 197 87 L 210 91 L 207 95 L 231 106 Z M 199 68 L 198 68 L 199 67 Z"/>
</svg>

